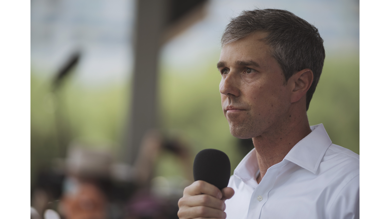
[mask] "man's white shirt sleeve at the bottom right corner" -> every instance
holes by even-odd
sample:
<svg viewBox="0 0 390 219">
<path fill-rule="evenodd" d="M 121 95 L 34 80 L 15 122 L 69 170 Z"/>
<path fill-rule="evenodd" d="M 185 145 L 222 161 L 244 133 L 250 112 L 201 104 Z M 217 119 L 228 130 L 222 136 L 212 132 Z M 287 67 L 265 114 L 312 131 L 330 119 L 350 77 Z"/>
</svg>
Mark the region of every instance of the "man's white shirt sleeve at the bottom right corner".
<svg viewBox="0 0 390 219">
<path fill-rule="evenodd" d="M 328 219 L 359 219 L 359 175 L 353 177 L 331 203 Z"/>
</svg>

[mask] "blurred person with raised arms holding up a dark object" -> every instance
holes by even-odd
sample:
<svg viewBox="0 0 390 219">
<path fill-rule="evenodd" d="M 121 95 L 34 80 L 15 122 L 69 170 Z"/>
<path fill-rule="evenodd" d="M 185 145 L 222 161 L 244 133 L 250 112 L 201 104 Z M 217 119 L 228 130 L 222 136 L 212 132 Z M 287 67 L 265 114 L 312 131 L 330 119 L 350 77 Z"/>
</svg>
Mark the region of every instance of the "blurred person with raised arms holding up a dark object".
<svg viewBox="0 0 390 219">
<path fill-rule="evenodd" d="M 163 151 L 177 156 L 187 177 L 185 181 L 193 181 L 192 159 L 186 144 L 178 139 L 164 139 L 158 131 L 150 130 L 143 137 L 135 164 L 137 191 L 127 202 L 126 219 L 177 218 L 177 201 L 187 185 L 154 176 L 156 160 Z"/>
</svg>

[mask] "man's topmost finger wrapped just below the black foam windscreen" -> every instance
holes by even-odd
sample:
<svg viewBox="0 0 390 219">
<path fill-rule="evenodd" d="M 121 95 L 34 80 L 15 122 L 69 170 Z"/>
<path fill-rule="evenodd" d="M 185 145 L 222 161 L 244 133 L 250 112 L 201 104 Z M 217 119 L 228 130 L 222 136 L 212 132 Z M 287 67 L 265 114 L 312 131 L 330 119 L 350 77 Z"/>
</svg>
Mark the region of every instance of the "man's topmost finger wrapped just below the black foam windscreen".
<svg viewBox="0 0 390 219">
<path fill-rule="evenodd" d="M 222 193 L 217 187 L 202 180 L 194 181 L 190 186 L 186 187 L 183 192 L 184 196 L 185 195 L 194 196 L 194 195 L 201 195 L 201 194 L 210 195 L 217 199 L 222 198 Z"/>
</svg>

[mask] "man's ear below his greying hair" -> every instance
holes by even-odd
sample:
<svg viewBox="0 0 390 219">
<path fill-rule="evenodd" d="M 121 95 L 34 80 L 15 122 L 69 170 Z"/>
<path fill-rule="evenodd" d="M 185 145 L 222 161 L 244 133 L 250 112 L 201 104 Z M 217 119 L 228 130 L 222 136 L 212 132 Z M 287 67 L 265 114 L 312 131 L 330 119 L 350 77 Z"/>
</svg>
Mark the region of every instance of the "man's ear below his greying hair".
<svg viewBox="0 0 390 219">
<path fill-rule="evenodd" d="M 298 71 L 288 80 L 291 85 L 291 103 L 299 101 L 309 90 L 313 82 L 313 71 L 309 68 Z M 305 103 L 306 104 L 306 103 Z"/>
</svg>

